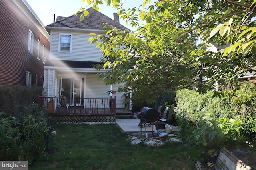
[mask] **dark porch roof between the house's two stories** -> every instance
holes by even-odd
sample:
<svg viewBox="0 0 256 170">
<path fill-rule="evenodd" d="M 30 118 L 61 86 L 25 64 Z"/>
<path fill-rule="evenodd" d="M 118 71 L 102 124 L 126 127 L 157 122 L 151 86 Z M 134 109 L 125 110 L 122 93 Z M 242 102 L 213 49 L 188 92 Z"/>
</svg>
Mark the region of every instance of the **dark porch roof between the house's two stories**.
<svg viewBox="0 0 256 170">
<path fill-rule="evenodd" d="M 45 66 L 66 67 L 66 68 L 93 68 L 94 64 L 103 64 L 93 61 L 68 61 L 68 60 L 49 60 Z"/>
</svg>

